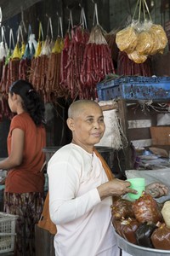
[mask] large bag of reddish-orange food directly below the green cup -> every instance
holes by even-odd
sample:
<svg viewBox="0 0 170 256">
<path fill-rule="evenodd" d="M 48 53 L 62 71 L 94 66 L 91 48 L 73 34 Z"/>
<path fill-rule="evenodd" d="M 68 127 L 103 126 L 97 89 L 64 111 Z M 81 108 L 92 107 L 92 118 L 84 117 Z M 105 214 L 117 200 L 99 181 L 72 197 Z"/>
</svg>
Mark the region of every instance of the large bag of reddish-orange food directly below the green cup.
<svg viewBox="0 0 170 256">
<path fill-rule="evenodd" d="M 157 202 L 151 195 L 143 193 L 138 200 L 133 202 L 133 212 L 135 218 L 140 222 L 151 222 L 156 224 L 161 222 L 162 216 Z"/>
</svg>

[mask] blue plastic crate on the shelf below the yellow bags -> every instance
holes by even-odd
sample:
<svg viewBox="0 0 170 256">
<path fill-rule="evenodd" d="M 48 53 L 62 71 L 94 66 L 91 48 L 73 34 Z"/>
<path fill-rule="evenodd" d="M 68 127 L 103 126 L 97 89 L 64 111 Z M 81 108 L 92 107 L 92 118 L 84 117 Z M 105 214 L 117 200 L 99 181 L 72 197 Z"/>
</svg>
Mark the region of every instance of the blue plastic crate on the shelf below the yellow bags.
<svg viewBox="0 0 170 256">
<path fill-rule="evenodd" d="M 170 100 L 170 77 L 125 76 L 97 84 L 99 101 Z"/>
</svg>

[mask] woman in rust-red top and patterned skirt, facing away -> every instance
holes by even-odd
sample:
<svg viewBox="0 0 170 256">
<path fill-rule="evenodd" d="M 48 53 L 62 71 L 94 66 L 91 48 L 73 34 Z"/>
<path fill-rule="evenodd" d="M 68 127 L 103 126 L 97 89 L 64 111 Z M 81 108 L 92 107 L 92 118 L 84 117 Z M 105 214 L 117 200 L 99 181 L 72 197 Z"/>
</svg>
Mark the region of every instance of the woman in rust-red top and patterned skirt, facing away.
<svg viewBox="0 0 170 256">
<path fill-rule="evenodd" d="M 42 166 L 46 146 L 44 103 L 32 84 L 14 82 L 8 91 L 8 106 L 16 113 L 8 132 L 8 158 L 0 169 L 8 170 L 5 180 L 4 212 L 19 216 L 14 255 L 35 255 L 34 227 L 43 205 Z"/>
</svg>

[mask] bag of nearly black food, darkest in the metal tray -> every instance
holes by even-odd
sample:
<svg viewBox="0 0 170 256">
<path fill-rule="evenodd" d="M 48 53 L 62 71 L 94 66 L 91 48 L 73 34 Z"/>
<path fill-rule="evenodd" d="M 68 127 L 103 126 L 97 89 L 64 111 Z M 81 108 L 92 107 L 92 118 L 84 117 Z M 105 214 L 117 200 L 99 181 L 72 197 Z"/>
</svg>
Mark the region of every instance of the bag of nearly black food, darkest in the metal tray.
<svg viewBox="0 0 170 256">
<path fill-rule="evenodd" d="M 156 230 L 156 224 L 144 222 L 140 224 L 136 230 L 136 240 L 139 246 L 141 247 L 150 247 L 153 248 L 152 241 L 150 236 Z"/>
</svg>

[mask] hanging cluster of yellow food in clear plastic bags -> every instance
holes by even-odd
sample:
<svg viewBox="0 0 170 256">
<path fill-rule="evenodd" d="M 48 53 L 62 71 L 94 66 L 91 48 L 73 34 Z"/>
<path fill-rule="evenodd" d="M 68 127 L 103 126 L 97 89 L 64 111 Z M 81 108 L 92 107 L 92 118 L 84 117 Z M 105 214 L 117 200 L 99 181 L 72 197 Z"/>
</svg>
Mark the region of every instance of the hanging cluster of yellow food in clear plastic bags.
<svg viewBox="0 0 170 256">
<path fill-rule="evenodd" d="M 135 20 L 138 8 L 139 17 L 138 20 Z M 143 20 L 141 13 L 143 14 Z M 145 13 L 149 15 L 148 20 Z M 167 45 L 166 32 L 161 25 L 153 24 L 145 0 L 138 0 L 132 23 L 116 33 L 116 44 L 135 63 L 144 63 L 149 55 L 163 53 Z"/>
</svg>

